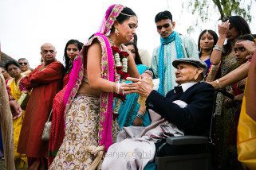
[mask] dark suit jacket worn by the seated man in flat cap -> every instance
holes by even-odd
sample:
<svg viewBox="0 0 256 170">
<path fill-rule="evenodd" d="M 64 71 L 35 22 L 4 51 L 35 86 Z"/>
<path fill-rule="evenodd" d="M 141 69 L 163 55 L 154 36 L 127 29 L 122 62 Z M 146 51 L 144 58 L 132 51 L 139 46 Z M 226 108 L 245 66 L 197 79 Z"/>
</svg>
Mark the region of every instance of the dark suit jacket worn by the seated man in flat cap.
<svg viewBox="0 0 256 170">
<path fill-rule="evenodd" d="M 214 103 L 215 89 L 208 83 L 196 83 L 187 91 L 175 94 L 174 90 L 163 97 L 157 91 L 152 91 L 146 100 L 148 109 L 166 118 L 183 129 L 185 135 L 209 136 L 212 106 Z M 182 100 L 187 107 L 180 108 L 173 103 L 175 100 Z"/>
</svg>

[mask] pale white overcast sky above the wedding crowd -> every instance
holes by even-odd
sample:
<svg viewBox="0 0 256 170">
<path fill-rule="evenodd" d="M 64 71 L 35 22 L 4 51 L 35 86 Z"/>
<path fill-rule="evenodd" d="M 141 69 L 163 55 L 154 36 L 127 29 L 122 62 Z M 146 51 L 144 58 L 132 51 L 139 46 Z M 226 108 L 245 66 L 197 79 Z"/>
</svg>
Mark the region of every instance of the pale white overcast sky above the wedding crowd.
<svg viewBox="0 0 256 170">
<path fill-rule="evenodd" d="M 170 10 L 176 22 L 175 31 L 187 35 L 187 28 L 195 24 L 197 14 L 192 15 L 182 6 L 182 0 L 0 0 L 0 42 L 1 50 L 18 60 L 29 60 L 30 68 L 40 64 L 41 44 L 49 42 L 57 49 L 57 60 L 63 63 L 67 41 L 77 39 L 85 43 L 100 28 L 105 10 L 114 3 L 120 3 L 134 10 L 139 25 L 138 48 L 147 49 L 150 54 L 160 44 L 160 36 L 154 22 L 157 13 Z M 253 8 L 256 8 L 254 3 Z M 210 9 L 211 18 L 191 33 L 197 43 L 203 29 L 217 30 L 218 11 Z M 251 13 L 252 33 L 256 33 L 256 15 Z"/>
</svg>

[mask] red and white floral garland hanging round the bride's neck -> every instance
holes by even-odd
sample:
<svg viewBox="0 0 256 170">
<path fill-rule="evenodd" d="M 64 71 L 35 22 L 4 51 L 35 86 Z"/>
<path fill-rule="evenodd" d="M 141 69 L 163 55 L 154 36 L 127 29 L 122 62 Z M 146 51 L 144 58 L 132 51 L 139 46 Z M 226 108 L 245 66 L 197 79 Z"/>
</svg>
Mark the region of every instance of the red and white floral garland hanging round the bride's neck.
<svg viewBox="0 0 256 170">
<path fill-rule="evenodd" d="M 126 78 L 129 76 L 128 74 L 128 52 L 120 51 L 116 46 L 112 46 L 112 53 L 115 60 L 115 82 L 124 83 Z M 122 62 L 121 62 L 122 61 Z M 125 100 L 125 95 L 122 93 L 114 93 L 114 97 L 116 97 L 116 106 L 113 110 L 113 117 L 117 118 L 118 110 L 120 108 L 121 102 Z"/>
</svg>

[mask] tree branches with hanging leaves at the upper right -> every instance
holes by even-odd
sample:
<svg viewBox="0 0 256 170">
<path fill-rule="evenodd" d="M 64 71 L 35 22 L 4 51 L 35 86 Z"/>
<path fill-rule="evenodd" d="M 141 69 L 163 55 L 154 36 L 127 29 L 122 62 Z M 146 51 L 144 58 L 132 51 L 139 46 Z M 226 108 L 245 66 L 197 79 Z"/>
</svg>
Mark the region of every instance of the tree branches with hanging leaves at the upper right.
<svg viewBox="0 0 256 170">
<path fill-rule="evenodd" d="M 254 1 L 256 2 L 256 0 Z M 203 22 L 208 20 L 211 10 L 216 8 L 219 11 L 219 19 L 221 20 L 231 15 L 240 15 L 250 22 L 252 2 L 253 0 L 191 0 L 188 2 L 187 7 L 192 11 L 192 14 L 198 12 Z"/>
</svg>

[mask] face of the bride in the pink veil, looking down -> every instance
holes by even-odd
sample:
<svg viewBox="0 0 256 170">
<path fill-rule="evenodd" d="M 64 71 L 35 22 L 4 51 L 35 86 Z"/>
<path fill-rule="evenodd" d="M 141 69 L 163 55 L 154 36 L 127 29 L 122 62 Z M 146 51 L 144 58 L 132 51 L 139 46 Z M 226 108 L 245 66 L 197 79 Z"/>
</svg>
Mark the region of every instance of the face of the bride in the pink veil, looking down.
<svg viewBox="0 0 256 170">
<path fill-rule="evenodd" d="M 136 16 L 129 17 L 122 24 L 118 23 L 116 29 L 119 31 L 119 38 L 123 43 L 132 41 L 134 34 L 136 33 L 136 28 L 138 26 L 138 19 Z"/>
</svg>

